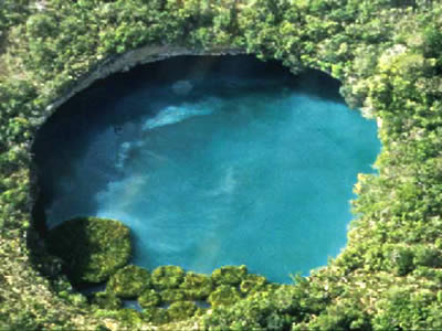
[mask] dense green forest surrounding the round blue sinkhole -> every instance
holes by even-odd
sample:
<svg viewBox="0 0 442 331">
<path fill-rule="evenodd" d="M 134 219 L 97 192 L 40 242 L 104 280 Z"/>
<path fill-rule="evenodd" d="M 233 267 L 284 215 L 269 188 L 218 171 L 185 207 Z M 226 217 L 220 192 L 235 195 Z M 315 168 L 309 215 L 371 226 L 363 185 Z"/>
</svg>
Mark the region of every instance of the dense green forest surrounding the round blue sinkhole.
<svg viewBox="0 0 442 331">
<path fill-rule="evenodd" d="M 175 45 L 327 72 L 351 107 L 378 118 L 382 141 L 379 174 L 359 177 L 335 260 L 175 328 L 441 329 L 441 18 L 429 0 L 2 0 L 0 327 L 146 324 L 127 310 L 91 310 L 46 253 L 31 222 L 30 146 L 48 106 L 87 73 L 138 46 Z"/>
</svg>

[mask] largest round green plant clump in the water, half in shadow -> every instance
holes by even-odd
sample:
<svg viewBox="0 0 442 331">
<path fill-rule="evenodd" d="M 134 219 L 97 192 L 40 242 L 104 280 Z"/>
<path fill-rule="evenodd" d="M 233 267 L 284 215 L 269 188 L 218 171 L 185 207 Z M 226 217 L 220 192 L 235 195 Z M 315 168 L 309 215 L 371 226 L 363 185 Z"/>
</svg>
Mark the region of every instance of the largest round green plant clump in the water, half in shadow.
<svg viewBox="0 0 442 331">
<path fill-rule="evenodd" d="M 129 229 L 118 221 L 77 217 L 53 228 L 49 250 L 62 258 L 73 282 L 101 282 L 130 257 Z"/>
</svg>

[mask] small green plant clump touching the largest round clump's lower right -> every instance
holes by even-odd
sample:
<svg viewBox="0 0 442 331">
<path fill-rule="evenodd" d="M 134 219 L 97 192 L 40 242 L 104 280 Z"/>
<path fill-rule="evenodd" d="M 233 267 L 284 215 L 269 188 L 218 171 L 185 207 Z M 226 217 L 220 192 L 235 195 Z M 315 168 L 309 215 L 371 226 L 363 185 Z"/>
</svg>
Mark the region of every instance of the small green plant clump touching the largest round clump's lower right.
<svg viewBox="0 0 442 331">
<path fill-rule="evenodd" d="M 115 273 L 107 282 L 106 290 L 120 298 L 136 298 L 150 287 L 150 273 L 129 265 Z"/>
</svg>

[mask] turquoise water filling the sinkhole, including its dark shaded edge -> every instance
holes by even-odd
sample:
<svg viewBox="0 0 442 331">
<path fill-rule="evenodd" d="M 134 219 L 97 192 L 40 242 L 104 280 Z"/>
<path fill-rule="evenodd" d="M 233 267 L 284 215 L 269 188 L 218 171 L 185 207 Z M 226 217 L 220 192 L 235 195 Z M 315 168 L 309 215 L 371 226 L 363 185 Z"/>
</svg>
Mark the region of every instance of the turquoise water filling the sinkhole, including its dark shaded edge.
<svg viewBox="0 0 442 331">
<path fill-rule="evenodd" d="M 41 128 L 38 222 L 119 220 L 133 263 L 308 275 L 346 244 L 380 150 L 339 83 L 252 56 L 181 56 L 96 82 Z"/>
</svg>

